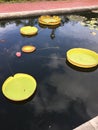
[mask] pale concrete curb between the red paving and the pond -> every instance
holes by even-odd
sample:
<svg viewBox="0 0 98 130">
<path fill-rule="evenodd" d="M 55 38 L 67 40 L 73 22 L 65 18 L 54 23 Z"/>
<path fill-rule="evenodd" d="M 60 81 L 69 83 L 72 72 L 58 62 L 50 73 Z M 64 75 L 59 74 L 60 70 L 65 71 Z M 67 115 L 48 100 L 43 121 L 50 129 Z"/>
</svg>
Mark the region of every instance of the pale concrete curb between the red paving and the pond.
<svg viewBox="0 0 98 130">
<path fill-rule="evenodd" d="M 38 15 L 45 15 L 45 14 L 63 14 L 63 13 L 72 13 L 72 12 L 78 12 L 78 11 L 89 11 L 92 9 L 98 9 L 98 6 L 90 6 L 90 7 L 85 6 L 85 7 L 75 7 L 75 8 L 58 8 L 58 9 L 50 9 L 50 10 L 34 10 L 34 11 L 0 13 L 0 20 L 24 18 L 24 17 L 38 16 Z"/>
</svg>

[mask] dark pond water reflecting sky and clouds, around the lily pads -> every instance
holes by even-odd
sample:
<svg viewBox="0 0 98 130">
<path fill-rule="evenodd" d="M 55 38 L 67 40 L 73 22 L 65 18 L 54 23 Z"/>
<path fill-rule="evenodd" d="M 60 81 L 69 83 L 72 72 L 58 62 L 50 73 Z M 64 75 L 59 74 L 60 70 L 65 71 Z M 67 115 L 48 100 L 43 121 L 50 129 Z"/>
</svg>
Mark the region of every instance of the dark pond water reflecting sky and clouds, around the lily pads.
<svg viewBox="0 0 98 130">
<path fill-rule="evenodd" d="M 56 28 L 40 26 L 38 17 L 0 21 L 1 130 L 72 130 L 98 115 L 98 68 L 80 69 L 66 60 L 66 52 L 76 47 L 98 53 L 98 15 L 59 16 L 62 22 Z M 20 28 L 26 25 L 37 27 L 38 34 L 22 36 Z M 24 45 L 33 45 L 36 51 L 21 52 Z M 37 81 L 35 94 L 25 102 L 2 94 L 3 82 L 16 73 Z"/>
</svg>

